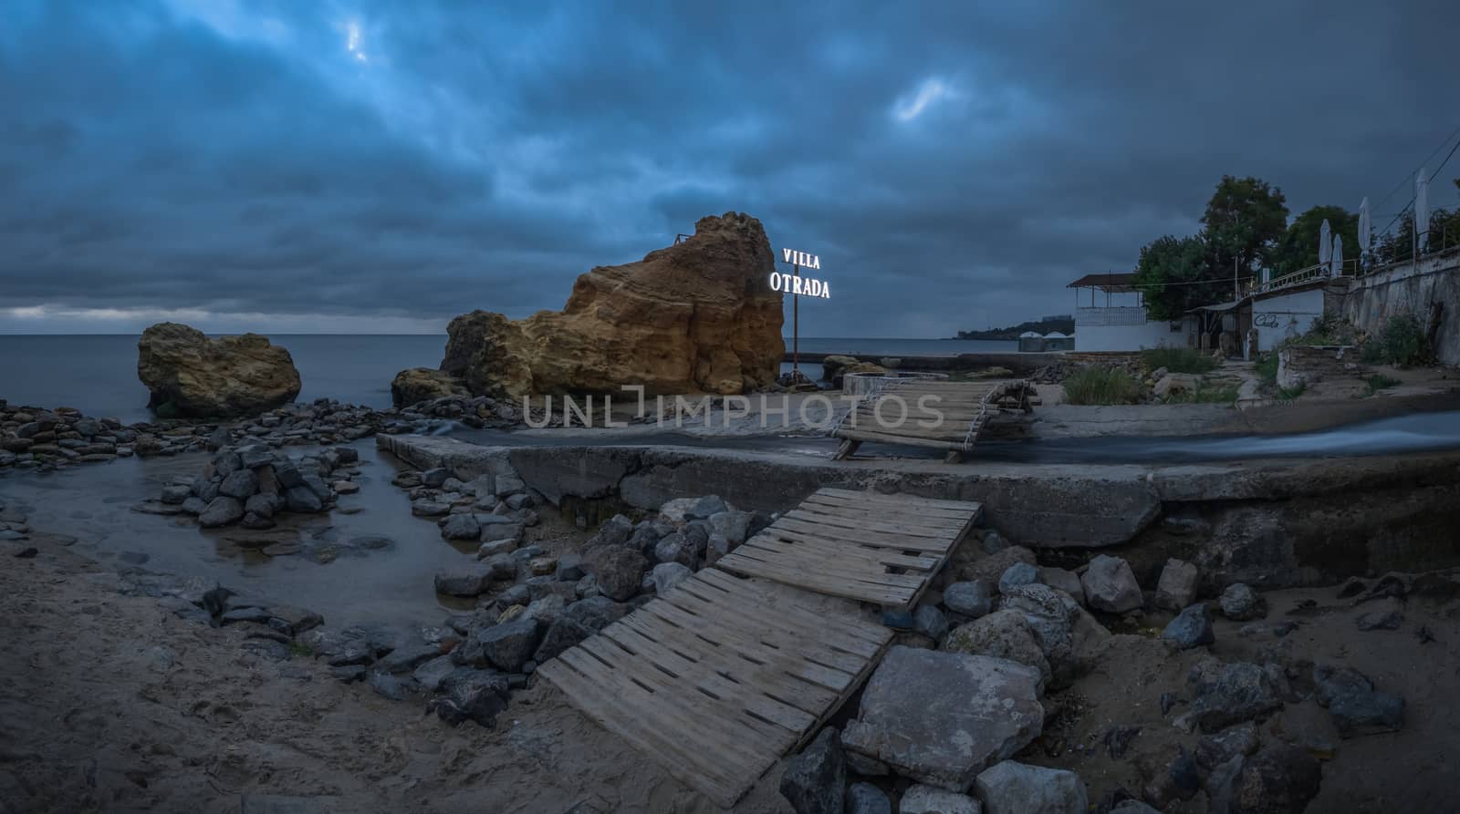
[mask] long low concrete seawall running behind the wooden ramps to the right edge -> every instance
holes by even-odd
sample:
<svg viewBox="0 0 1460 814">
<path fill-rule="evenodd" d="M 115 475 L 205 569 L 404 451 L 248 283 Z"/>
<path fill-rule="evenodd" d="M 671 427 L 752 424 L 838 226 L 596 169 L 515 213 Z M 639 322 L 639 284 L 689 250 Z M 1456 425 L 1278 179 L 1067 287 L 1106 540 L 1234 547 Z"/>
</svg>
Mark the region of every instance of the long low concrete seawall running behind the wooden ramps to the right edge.
<svg viewBox="0 0 1460 814">
<path fill-rule="evenodd" d="M 1114 549 L 1146 572 L 1169 556 L 1215 584 L 1298 585 L 1460 565 L 1460 452 L 1250 464 L 1073 465 L 838 461 L 685 446 L 476 446 L 378 436 L 458 478 L 515 473 L 549 502 L 653 511 L 720 495 L 784 511 L 822 486 L 978 500 L 984 525 L 1077 565 Z M 587 519 L 596 519 L 588 516 Z"/>
</svg>

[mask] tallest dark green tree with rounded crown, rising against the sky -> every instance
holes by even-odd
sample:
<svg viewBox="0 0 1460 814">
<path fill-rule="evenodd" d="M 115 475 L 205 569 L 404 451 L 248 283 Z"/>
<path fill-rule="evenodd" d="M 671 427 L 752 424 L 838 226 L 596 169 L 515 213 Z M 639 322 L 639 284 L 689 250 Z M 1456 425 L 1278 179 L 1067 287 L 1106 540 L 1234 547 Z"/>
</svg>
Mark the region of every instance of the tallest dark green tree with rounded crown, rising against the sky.
<svg viewBox="0 0 1460 814">
<path fill-rule="evenodd" d="M 1288 198 L 1261 178 L 1223 175 L 1202 216 L 1212 274 L 1241 277 L 1272 267 L 1278 241 L 1288 232 Z"/>
</svg>

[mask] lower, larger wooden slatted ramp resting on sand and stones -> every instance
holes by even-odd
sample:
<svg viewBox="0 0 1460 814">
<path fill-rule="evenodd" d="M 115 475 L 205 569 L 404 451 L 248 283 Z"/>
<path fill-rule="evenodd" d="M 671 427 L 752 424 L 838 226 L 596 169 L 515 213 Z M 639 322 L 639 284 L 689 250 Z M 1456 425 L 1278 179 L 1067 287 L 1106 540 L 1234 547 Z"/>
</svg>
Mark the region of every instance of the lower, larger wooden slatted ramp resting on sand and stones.
<svg viewBox="0 0 1460 814">
<path fill-rule="evenodd" d="M 851 608 L 812 610 L 806 601 L 704 569 L 537 675 L 729 808 L 816 734 L 892 637 Z"/>
</svg>

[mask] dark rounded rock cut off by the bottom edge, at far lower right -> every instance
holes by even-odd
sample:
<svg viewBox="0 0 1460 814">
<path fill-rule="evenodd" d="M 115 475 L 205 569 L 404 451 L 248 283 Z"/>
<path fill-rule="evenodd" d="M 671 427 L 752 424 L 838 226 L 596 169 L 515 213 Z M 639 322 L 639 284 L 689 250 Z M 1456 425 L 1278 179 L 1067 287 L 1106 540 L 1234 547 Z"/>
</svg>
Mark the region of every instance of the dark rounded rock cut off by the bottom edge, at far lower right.
<svg viewBox="0 0 1460 814">
<path fill-rule="evenodd" d="M 1307 751 L 1275 743 L 1212 772 L 1212 814 L 1302 814 L 1318 795 L 1323 767 Z"/>
</svg>

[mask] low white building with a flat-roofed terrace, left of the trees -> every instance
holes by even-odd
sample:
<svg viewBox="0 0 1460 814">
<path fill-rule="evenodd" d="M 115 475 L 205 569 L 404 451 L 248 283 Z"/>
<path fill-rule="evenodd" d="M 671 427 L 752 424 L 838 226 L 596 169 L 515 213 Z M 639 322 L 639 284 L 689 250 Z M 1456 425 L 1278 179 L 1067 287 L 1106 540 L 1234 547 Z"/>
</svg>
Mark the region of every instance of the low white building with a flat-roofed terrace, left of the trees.
<svg viewBox="0 0 1460 814">
<path fill-rule="evenodd" d="M 1181 321 L 1150 319 L 1134 283 L 1134 274 L 1086 274 L 1066 286 L 1075 289 L 1075 350 L 1186 344 Z M 1089 292 L 1088 299 L 1085 292 Z"/>
</svg>

